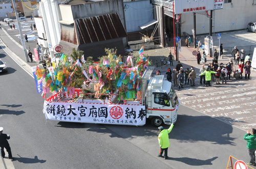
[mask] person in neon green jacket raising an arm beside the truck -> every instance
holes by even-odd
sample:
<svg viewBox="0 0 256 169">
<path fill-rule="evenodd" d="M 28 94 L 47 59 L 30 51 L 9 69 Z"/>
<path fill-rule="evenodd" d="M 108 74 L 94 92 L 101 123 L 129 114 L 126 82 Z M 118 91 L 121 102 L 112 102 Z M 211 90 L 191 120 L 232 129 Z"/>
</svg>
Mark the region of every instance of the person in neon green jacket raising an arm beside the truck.
<svg viewBox="0 0 256 169">
<path fill-rule="evenodd" d="M 167 151 L 168 151 L 168 147 L 170 146 L 169 143 L 169 133 L 170 131 L 172 131 L 174 127 L 174 124 L 170 125 L 170 127 L 166 130 L 163 129 L 162 126 L 158 127 L 158 129 L 160 130 L 160 134 L 158 135 L 158 142 L 160 145 L 160 154 L 158 154 L 158 157 L 163 157 L 163 151 L 164 151 L 164 159 L 166 160 L 168 158 L 167 156 Z"/>
</svg>

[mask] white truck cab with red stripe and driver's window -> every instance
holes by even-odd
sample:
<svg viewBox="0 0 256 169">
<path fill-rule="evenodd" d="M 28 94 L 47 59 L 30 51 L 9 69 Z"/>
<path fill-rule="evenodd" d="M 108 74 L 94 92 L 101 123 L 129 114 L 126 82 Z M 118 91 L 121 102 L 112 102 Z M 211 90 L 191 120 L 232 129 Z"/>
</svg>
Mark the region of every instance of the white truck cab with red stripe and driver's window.
<svg viewBox="0 0 256 169">
<path fill-rule="evenodd" d="M 179 99 L 172 87 L 172 82 L 164 80 L 164 75 L 150 78 L 145 97 L 146 117 L 152 125 L 174 124 L 177 120 Z"/>
</svg>

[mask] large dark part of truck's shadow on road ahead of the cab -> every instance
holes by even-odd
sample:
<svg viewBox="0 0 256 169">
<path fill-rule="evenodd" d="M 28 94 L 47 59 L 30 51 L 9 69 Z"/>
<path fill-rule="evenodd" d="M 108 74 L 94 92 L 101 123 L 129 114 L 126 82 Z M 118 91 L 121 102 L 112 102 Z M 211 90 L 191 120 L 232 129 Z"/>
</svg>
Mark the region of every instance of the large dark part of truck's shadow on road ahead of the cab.
<svg viewBox="0 0 256 169">
<path fill-rule="evenodd" d="M 232 125 L 209 116 L 178 115 L 170 138 L 185 143 L 205 141 L 212 142 L 212 144 L 236 146 L 233 142 L 236 138 L 230 137 L 232 131 Z"/>
</svg>

